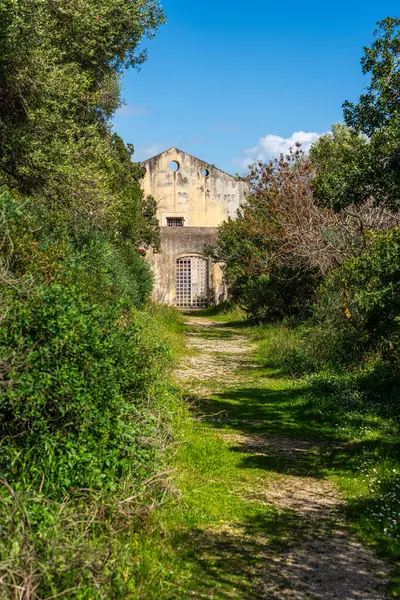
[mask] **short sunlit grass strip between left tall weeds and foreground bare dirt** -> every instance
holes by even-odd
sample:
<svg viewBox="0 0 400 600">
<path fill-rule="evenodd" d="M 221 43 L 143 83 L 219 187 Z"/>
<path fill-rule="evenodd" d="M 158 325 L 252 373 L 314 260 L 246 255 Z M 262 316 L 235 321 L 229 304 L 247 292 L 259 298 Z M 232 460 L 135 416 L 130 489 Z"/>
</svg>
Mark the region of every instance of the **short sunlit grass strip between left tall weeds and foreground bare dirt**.
<svg viewBox="0 0 400 600">
<path fill-rule="evenodd" d="M 248 501 L 248 490 L 265 482 L 265 468 L 249 468 L 247 453 L 226 444 L 214 427 L 189 419 L 181 435 L 174 462 L 178 495 L 165 508 L 167 535 L 160 540 L 170 587 L 160 597 L 255 600 L 253 578 L 265 546 L 282 549 L 302 539 L 304 525 L 291 511 Z"/>
</svg>

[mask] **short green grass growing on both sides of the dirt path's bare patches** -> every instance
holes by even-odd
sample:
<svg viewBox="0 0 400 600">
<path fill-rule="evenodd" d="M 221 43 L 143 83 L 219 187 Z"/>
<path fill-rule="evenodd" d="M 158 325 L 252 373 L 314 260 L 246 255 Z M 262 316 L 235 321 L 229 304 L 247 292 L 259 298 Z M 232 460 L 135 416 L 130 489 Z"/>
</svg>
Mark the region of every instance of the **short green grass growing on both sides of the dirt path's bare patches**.
<svg viewBox="0 0 400 600">
<path fill-rule="evenodd" d="M 312 378 L 288 375 L 285 357 L 300 335 L 293 329 L 252 328 L 242 321 L 232 332 L 237 315 L 204 316 L 221 326 L 202 328 L 197 333 L 203 337 L 237 333 L 256 341 L 258 367 L 244 369 L 240 382 L 223 389 L 218 380 L 207 382 L 207 398 L 189 398 L 177 416 L 173 499 L 159 515 L 164 534 L 157 560 L 168 565 L 159 597 L 259 598 L 254 581 L 265 549 L 279 552 L 300 543 L 307 529 L 292 511 L 266 505 L 257 494 L 281 475 L 330 479 L 339 486 L 349 526 L 389 561 L 390 593 L 400 597 L 397 421 L 363 405 L 357 394 L 339 393 L 337 385 L 328 393 Z M 296 457 L 258 455 L 235 442 L 235 435 L 294 438 L 310 447 Z"/>
</svg>

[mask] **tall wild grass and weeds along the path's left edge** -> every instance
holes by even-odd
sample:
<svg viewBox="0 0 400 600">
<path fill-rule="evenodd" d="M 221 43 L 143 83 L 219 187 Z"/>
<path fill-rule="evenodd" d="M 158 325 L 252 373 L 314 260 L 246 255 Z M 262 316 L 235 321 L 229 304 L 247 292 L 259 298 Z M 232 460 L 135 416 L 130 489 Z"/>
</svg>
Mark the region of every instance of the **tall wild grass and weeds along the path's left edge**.
<svg viewBox="0 0 400 600">
<path fill-rule="evenodd" d="M 171 503 L 171 494 L 167 487 L 168 465 L 163 458 L 172 440 L 172 421 L 177 423 L 179 414 L 183 414 L 181 396 L 170 381 L 169 371 L 171 354 L 177 360 L 179 353 L 184 352 L 185 324 L 177 311 L 157 306 L 135 312 L 134 319 L 144 328 L 139 347 L 146 356 L 144 367 L 155 367 L 142 397 L 146 410 L 141 410 L 138 401 L 138 385 L 134 391 L 129 389 L 129 407 L 137 402 L 137 411 L 125 411 L 122 417 L 124 424 L 137 424 L 134 441 L 137 439 L 140 446 L 138 443 L 134 449 L 140 458 L 123 476 L 109 475 L 107 487 L 95 487 L 89 482 L 82 487 L 75 484 L 61 488 L 60 484 L 60 490 L 53 472 L 59 469 L 63 474 L 64 463 L 60 455 L 52 453 L 51 438 L 46 439 L 40 467 L 32 459 L 35 447 L 26 452 L 16 447 L 8 453 L 7 463 L 3 458 L 11 472 L 12 461 L 17 462 L 21 476 L 7 481 L 3 477 L 0 481 L 1 600 L 167 597 L 165 587 L 171 577 L 169 566 L 162 561 L 160 517 L 166 499 Z M 125 343 L 123 350 L 128 349 Z M 164 368 L 159 372 L 161 364 Z M 129 367 L 137 369 L 132 360 L 127 361 L 126 368 Z M 142 371 L 139 373 L 143 378 Z M 98 390 L 101 398 L 100 385 Z M 98 414 L 92 414 L 93 417 Z M 132 432 L 126 426 L 121 425 L 121 429 L 122 442 L 129 449 Z M 7 438 L 0 446 L 3 457 L 6 443 Z M 99 445 L 98 437 L 95 444 Z M 62 457 L 68 466 L 74 459 L 71 446 L 64 443 L 63 447 Z M 89 464 L 95 464 L 93 453 L 84 456 Z M 106 458 L 108 462 L 101 464 L 102 477 L 108 474 L 107 467 L 111 470 L 110 462 L 114 460 L 111 453 Z M 41 465 L 46 468 L 42 470 Z M 32 471 L 37 477 L 31 476 Z M 47 492 L 49 480 L 57 493 Z"/>
</svg>

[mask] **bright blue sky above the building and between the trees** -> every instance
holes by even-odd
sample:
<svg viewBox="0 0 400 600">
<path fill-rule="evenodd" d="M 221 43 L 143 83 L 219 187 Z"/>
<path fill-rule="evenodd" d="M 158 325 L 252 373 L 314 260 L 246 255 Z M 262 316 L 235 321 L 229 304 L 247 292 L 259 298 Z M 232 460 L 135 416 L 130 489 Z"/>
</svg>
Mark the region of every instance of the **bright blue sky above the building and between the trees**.
<svg viewBox="0 0 400 600">
<path fill-rule="evenodd" d="M 123 78 L 115 129 L 136 160 L 177 146 L 244 172 L 292 140 L 305 147 L 366 84 L 362 48 L 398 2 L 164 0 L 141 72 Z M 397 8 L 396 8 L 397 6 Z"/>
</svg>

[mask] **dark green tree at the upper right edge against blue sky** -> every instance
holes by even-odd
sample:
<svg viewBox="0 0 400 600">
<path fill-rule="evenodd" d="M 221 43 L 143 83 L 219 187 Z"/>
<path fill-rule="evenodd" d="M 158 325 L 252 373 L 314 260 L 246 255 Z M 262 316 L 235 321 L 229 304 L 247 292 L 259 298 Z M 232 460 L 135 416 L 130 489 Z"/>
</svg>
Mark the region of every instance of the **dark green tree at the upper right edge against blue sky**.
<svg viewBox="0 0 400 600">
<path fill-rule="evenodd" d="M 400 20 L 384 19 L 375 35 L 361 60 L 367 92 L 343 105 L 348 128 L 334 126 L 311 151 L 315 197 L 335 210 L 371 198 L 400 209 Z"/>
</svg>

